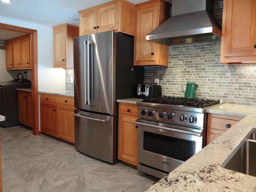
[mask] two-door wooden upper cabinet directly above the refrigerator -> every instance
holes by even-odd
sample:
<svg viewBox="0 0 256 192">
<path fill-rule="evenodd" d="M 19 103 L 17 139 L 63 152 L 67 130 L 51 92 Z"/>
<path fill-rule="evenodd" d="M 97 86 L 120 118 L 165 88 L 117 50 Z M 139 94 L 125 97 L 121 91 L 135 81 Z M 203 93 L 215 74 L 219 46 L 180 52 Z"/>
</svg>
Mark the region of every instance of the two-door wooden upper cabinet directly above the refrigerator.
<svg viewBox="0 0 256 192">
<path fill-rule="evenodd" d="M 80 36 L 106 31 L 135 34 L 135 6 L 126 0 L 112 0 L 79 14 Z"/>
</svg>

